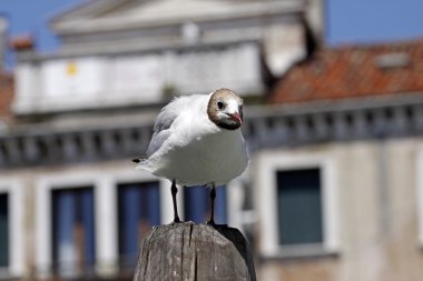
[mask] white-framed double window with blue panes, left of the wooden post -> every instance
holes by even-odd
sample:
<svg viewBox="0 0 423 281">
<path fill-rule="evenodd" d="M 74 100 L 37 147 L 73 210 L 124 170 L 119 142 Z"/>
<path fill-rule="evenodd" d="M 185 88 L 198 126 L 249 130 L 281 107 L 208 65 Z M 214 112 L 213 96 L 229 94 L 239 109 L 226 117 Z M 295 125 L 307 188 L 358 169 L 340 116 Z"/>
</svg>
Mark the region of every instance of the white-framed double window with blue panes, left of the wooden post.
<svg viewBox="0 0 423 281">
<path fill-rule="evenodd" d="M 153 217 L 150 225 L 169 222 L 171 198 L 168 181 L 121 167 L 119 170 L 114 165 L 108 172 L 102 165 L 78 167 L 37 179 L 35 265 L 39 279 L 55 275 L 109 279 L 132 273 L 139 250 L 138 234 L 142 235 L 146 224 L 134 222 L 131 215 Z M 153 185 L 156 189 L 150 192 Z M 134 197 L 137 193 L 134 189 L 138 188 L 141 193 L 147 189 L 147 197 Z M 159 192 L 161 189 L 169 193 L 158 200 L 164 193 Z M 153 214 L 144 213 L 145 202 L 148 210 L 155 209 Z M 65 257 L 66 251 L 70 254 Z M 128 271 L 122 271 L 122 265 Z"/>
</svg>

